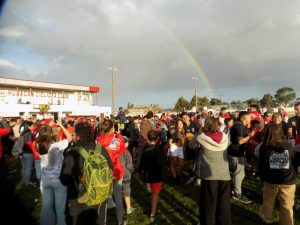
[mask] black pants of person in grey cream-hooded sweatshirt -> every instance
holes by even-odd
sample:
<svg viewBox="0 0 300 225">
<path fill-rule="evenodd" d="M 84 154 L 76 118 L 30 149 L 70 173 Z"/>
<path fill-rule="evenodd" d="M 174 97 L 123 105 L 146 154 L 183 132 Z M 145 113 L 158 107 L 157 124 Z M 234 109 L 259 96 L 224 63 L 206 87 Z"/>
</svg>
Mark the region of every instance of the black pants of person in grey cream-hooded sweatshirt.
<svg viewBox="0 0 300 225">
<path fill-rule="evenodd" d="M 201 225 L 231 225 L 230 181 L 202 180 L 199 198 Z"/>
</svg>

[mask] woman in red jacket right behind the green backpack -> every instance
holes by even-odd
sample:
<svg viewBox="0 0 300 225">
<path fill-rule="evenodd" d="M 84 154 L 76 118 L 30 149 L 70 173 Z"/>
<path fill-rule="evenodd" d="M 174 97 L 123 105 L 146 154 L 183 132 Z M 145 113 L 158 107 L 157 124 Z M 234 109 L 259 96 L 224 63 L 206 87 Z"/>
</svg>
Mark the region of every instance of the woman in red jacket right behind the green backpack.
<svg viewBox="0 0 300 225">
<path fill-rule="evenodd" d="M 120 133 L 115 134 L 114 124 L 112 120 L 105 120 L 100 125 L 100 137 L 97 142 L 105 147 L 108 151 L 113 167 L 113 194 L 116 203 L 116 213 L 119 225 L 127 224 L 123 220 L 123 200 L 122 200 L 122 180 L 124 176 L 124 167 L 120 160 L 120 155 L 126 152 L 125 141 Z"/>
</svg>

